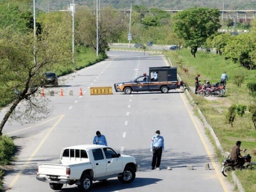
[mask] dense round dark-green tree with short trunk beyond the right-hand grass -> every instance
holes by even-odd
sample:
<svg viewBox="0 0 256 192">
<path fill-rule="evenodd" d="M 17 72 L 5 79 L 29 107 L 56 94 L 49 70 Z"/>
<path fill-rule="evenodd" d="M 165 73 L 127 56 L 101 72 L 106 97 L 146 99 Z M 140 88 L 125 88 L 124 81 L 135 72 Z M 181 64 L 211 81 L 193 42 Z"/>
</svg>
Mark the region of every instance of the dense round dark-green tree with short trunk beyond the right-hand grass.
<svg viewBox="0 0 256 192">
<path fill-rule="evenodd" d="M 204 45 L 206 39 L 220 28 L 218 9 L 191 8 L 178 12 L 174 19 L 173 31 L 183 38 L 185 46 L 191 48 L 196 57 L 197 48 Z"/>
</svg>

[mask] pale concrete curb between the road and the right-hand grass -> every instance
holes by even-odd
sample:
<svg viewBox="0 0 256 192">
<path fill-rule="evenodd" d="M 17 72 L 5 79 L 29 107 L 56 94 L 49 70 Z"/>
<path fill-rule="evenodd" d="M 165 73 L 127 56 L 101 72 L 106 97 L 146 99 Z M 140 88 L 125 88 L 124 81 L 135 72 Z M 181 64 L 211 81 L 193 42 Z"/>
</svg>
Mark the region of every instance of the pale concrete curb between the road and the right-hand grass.
<svg viewBox="0 0 256 192">
<path fill-rule="evenodd" d="M 168 59 L 170 65 L 173 66 L 173 64 L 172 64 L 172 62 L 171 62 L 171 59 L 170 59 L 169 57 L 167 57 L 167 59 Z M 181 78 L 180 78 L 179 75 L 178 75 L 178 80 L 179 80 L 179 81 L 181 80 Z M 189 92 L 187 89 L 185 89 L 185 94 L 186 94 L 187 97 L 190 99 L 190 102 L 194 102 L 193 98 L 192 98 L 191 95 L 190 95 L 190 92 Z M 201 120 L 202 120 L 203 123 L 204 123 L 204 126 L 210 131 L 211 136 L 213 137 L 213 139 L 214 139 L 214 141 L 215 141 L 215 144 L 216 144 L 218 150 L 221 152 L 222 155 L 224 155 L 223 147 L 221 146 L 220 141 L 219 141 L 219 139 L 218 139 L 216 133 L 214 132 L 213 128 L 212 128 L 211 125 L 207 122 L 206 118 L 204 117 L 204 115 L 203 115 L 202 111 L 199 109 L 199 107 L 197 107 L 197 111 L 198 111 L 198 114 L 199 114 Z M 237 178 L 237 175 L 236 175 L 234 172 L 232 172 L 231 175 L 232 175 L 233 182 L 235 183 L 235 185 L 237 185 L 238 191 L 239 191 L 239 192 L 245 192 L 245 190 L 244 190 L 242 184 L 240 183 L 239 179 Z"/>
</svg>

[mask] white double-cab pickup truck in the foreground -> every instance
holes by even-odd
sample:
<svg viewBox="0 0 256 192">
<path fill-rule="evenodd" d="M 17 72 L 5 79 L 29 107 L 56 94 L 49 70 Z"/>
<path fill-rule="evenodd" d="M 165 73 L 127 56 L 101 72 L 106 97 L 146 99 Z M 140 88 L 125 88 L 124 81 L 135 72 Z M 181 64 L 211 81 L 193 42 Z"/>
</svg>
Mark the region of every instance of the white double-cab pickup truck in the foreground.
<svg viewBox="0 0 256 192">
<path fill-rule="evenodd" d="M 87 192 L 92 181 L 117 177 L 122 183 L 131 183 L 136 170 L 133 156 L 117 154 L 103 145 L 77 145 L 62 149 L 55 164 L 38 163 L 36 179 L 50 183 L 53 190 L 76 184 L 81 192 Z"/>
</svg>

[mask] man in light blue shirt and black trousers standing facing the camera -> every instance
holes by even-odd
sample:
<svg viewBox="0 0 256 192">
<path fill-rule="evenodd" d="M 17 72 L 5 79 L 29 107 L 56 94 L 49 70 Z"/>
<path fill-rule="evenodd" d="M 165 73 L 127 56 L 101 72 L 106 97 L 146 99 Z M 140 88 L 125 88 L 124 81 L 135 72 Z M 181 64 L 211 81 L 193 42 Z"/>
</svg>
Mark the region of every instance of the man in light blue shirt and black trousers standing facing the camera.
<svg viewBox="0 0 256 192">
<path fill-rule="evenodd" d="M 161 156 L 162 151 L 164 150 L 164 137 L 160 135 L 160 130 L 156 131 L 156 135 L 152 137 L 151 145 L 150 145 L 150 152 L 153 153 L 152 158 L 152 168 L 153 170 L 156 166 L 156 170 L 160 170 L 159 166 L 161 163 Z"/>
</svg>

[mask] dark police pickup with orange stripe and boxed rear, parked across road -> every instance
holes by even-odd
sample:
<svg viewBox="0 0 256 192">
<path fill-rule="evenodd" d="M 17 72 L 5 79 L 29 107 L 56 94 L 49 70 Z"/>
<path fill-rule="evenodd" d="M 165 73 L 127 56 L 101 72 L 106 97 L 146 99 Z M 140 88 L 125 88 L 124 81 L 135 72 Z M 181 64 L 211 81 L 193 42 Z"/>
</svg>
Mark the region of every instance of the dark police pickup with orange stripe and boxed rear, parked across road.
<svg viewBox="0 0 256 192">
<path fill-rule="evenodd" d="M 167 93 L 171 89 L 177 89 L 183 86 L 183 81 L 178 82 L 177 68 L 170 66 L 149 67 L 149 75 L 146 73 L 143 76 L 136 78 L 134 81 L 116 83 L 114 88 L 116 92 L 131 92 L 139 91 L 161 91 Z"/>
</svg>

